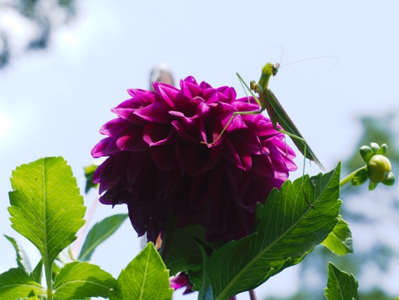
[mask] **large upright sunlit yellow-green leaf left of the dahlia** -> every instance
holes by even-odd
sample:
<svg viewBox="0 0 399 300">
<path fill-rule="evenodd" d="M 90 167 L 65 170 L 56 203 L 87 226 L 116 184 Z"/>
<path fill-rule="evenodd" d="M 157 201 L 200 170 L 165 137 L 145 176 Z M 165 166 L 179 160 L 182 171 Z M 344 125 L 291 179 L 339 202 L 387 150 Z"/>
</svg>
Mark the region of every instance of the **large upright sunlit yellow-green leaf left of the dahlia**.
<svg viewBox="0 0 399 300">
<path fill-rule="evenodd" d="M 83 225 L 86 208 L 63 158 L 41 158 L 12 171 L 8 208 L 12 227 L 53 262 Z"/>
</svg>

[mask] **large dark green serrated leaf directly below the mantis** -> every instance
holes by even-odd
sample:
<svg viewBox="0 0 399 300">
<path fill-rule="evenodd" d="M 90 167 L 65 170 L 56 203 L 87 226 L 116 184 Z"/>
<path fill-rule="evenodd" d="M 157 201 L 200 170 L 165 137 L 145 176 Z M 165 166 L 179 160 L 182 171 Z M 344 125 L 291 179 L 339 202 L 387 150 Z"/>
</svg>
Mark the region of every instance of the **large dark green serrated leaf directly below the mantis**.
<svg viewBox="0 0 399 300">
<path fill-rule="evenodd" d="M 215 299 L 256 288 L 284 268 L 298 264 L 338 222 L 339 170 L 288 180 L 257 205 L 255 234 L 214 251 L 205 265 Z M 302 186 L 303 184 L 303 186 Z M 306 197 L 305 197 L 306 195 Z M 308 202 L 313 206 L 309 205 Z"/>
</svg>

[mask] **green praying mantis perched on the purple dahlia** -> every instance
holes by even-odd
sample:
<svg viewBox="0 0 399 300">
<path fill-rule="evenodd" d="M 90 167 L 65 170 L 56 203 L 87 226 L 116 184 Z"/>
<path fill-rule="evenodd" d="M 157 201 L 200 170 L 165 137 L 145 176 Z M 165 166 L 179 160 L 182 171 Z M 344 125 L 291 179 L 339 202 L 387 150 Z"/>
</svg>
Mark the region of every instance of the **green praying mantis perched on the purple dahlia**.
<svg viewBox="0 0 399 300">
<path fill-rule="evenodd" d="M 315 162 L 323 171 L 325 171 L 324 166 L 322 165 L 320 160 L 318 160 L 318 158 L 313 153 L 309 145 L 307 145 L 305 138 L 303 138 L 298 128 L 296 128 L 292 120 L 289 118 L 287 112 L 285 112 L 279 100 L 277 100 L 274 93 L 268 88 L 270 77 L 272 75 L 275 76 L 277 74 L 277 72 L 279 71 L 279 67 L 280 67 L 279 63 L 272 64 L 271 62 L 268 62 L 267 64 L 265 64 L 265 66 L 263 66 L 262 68 L 262 73 L 259 82 L 258 83 L 256 83 L 255 81 L 250 82 L 250 88 L 244 82 L 242 77 L 237 73 L 237 77 L 240 80 L 241 84 L 245 86 L 245 88 L 250 92 L 255 101 L 257 101 L 257 103 L 259 104 L 259 110 L 253 112 L 235 112 L 227 122 L 227 125 L 222 129 L 222 132 L 220 132 L 218 138 L 216 138 L 214 142 L 211 142 L 210 144 L 207 145 L 212 145 L 219 140 L 219 138 L 224 133 L 224 130 L 233 120 L 234 116 L 237 116 L 238 114 L 261 114 L 264 110 L 266 110 L 270 116 L 270 120 L 272 121 L 274 129 L 276 129 L 279 132 L 282 132 L 283 134 L 287 134 L 287 136 L 289 136 L 292 139 L 292 141 L 294 142 L 300 153 L 302 153 L 305 158 Z M 256 92 L 259 95 L 259 98 L 256 97 L 254 92 Z M 279 125 L 283 129 L 277 127 L 276 126 L 277 123 L 279 123 Z"/>
</svg>

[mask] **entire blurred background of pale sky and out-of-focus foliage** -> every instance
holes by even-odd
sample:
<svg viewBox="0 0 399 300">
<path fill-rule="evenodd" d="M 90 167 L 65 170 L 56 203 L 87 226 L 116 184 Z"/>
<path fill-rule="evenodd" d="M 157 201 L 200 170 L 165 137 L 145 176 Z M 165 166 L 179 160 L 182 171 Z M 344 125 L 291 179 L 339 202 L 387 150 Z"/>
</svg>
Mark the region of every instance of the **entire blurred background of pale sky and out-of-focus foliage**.
<svg viewBox="0 0 399 300">
<path fill-rule="evenodd" d="M 343 176 L 361 166 L 359 145 L 388 144 L 398 176 L 399 3 L 396 1 L 103 1 L 0 0 L 0 228 L 31 256 L 37 250 L 10 227 L 12 170 L 62 155 L 84 192 L 83 166 L 127 88 L 149 88 L 151 69 L 167 64 L 175 83 L 188 75 L 233 86 L 281 62 L 270 88 L 326 168 Z M 275 46 L 283 46 L 282 48 Z M 290 64 L 307 58 L 334 55 Z M 289 64 L 289 66 L 284 66 Z M 288 141 L 290 142 L 290 141 Z M 302 175 L 303 158 L 292 178 Z M 314 164 L 306 172 L 320 172 Z M 398 184 L 342 190 L 342 215 L 354 254 L 337 258 L 321 246 L 298 266 L 257 288 L 258 299 L 323 299 L 327 262 L 359 280 L 361 299 L 399 296 Z M 95 192 L 85 195 L 90 208 Z M 127 212 L 99 205 L 90 225 Z M 129 221 L 94 253 L 117 277 L 140 251 Z M 0 272 L 16 266 L 0 236 Z M 174 299 L 196 299 L 196 295 Z M 248 299 L 248 294 L 239 299 Z"/>
</svg>

